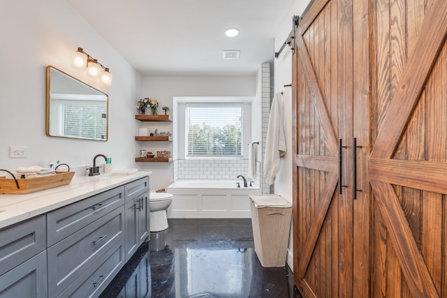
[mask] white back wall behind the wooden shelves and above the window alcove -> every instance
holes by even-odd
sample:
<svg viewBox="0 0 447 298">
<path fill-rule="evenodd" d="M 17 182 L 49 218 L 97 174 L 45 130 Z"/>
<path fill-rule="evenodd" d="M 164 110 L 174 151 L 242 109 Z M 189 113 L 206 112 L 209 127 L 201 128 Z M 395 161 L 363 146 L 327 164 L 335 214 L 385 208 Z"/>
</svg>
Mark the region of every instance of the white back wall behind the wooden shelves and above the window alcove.
<svg viewBox="0 0 447 298">
<path fill-rule="evenodd" d="M 163 112 L 161 107 L 170 108 L 168 114 L 175 119 L 177 111 L 173 106 L 175 96 L 255 96 L 256 77 L 143 77 L 141 97 L 150 97 L 159 101 L 159 112 Z M 156 123 L 154 127 L 159 127 L 166 131 L 172 129 L 174 122 L 169 126 Z M 181 130 L 178 130 L 181 131 Z M 140 142 L 141 143 L 141 142 Z M 167 149 L 173 152 L 173 146 L 177 144 L 163 144 L 162 142 L 151 144 L 140 144 L 144 147 L 150 146 L 156 149 Z M 175 156 L 177 158 L 177 156 Z M 138 167 L 143 170 L 151 170 L 151 188 L 167 188 L 173 182 L 173 163 L 139 163 Z"/>
</svg>

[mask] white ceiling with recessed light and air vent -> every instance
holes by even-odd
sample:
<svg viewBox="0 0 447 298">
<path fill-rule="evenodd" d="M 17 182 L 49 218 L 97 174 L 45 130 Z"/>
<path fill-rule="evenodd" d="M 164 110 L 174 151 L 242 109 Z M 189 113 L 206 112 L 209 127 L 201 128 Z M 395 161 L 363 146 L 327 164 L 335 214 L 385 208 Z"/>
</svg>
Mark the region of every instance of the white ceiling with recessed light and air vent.
<svg viewBox="0 0 447 298">
<path fill-rule="evenodd" d="M 143 76 L 255 75 L 274 59 L 294 1 L 66 0 Z M 229 27 L 239 36 L 224 36 Z M 224 50 L 240 50 L 239 59 L 222 59 Z"/>
</svg>

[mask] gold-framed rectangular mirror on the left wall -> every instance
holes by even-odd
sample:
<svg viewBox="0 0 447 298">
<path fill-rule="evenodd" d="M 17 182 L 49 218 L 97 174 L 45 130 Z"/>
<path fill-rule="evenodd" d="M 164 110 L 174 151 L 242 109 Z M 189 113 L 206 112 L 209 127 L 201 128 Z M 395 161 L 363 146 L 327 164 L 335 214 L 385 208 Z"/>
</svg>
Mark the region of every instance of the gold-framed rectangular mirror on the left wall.
<svg viewBox="0 0 447 298">
<path fill-rule="evenodd" d="M 51 137 L 106 141 L 108 95 L 47 66 L 47 123 Z"/>
</svg>

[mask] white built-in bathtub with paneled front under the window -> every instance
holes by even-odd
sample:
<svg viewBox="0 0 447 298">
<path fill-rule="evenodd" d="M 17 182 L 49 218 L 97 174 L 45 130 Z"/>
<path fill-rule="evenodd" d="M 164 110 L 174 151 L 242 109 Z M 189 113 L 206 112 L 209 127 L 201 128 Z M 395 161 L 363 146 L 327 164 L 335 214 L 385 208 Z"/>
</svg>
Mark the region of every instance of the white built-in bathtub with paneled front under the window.
<svg viewBox="0 0 447 298">
<path fill-rule="evenodd" d="M 258 184 L 245 188 L 242 179 L 177 180 L 167 192 L 174 197 L 168 218 L 251 218 L 249 194 L 261 193 Z"/>
</svg>

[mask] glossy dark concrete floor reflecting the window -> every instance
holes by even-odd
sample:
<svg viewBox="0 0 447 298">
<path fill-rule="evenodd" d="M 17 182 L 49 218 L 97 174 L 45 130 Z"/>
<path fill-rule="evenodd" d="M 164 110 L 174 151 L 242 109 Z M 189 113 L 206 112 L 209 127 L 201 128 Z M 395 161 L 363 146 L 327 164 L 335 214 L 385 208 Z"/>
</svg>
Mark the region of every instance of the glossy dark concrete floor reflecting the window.
<svg viewBox="0 0 447 298">
<path fill-rule="evenodd" d="M 169 219 L 101 297 L 301 297 L 286 267 L 264 268 L 250 219 Z"/>
</svg>

